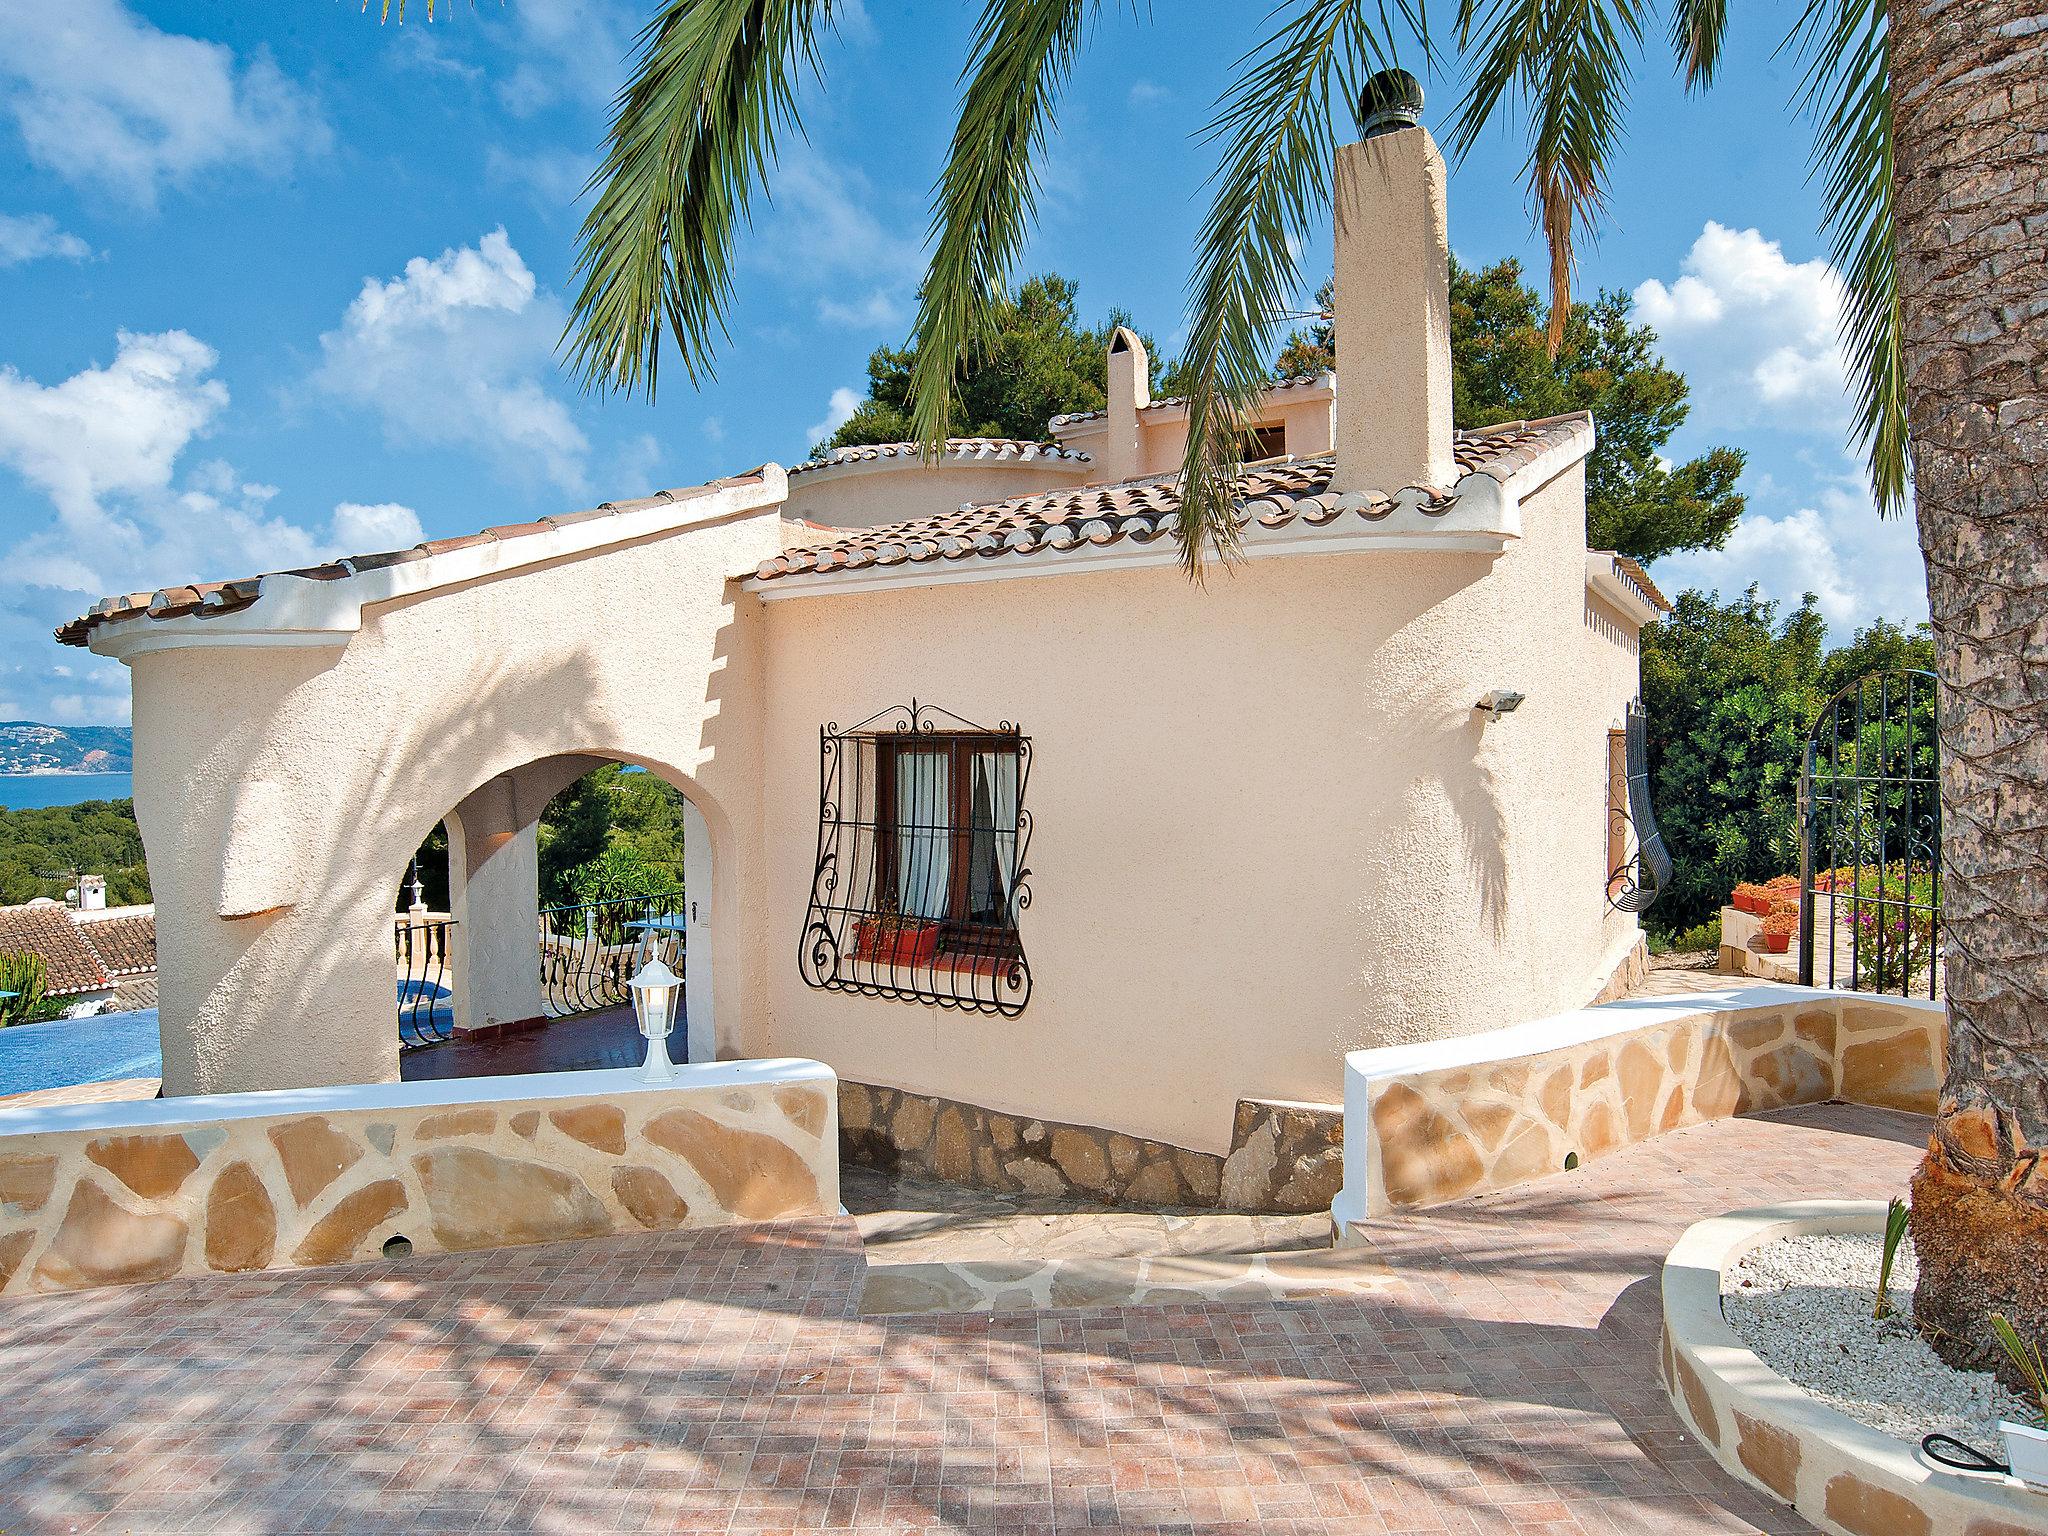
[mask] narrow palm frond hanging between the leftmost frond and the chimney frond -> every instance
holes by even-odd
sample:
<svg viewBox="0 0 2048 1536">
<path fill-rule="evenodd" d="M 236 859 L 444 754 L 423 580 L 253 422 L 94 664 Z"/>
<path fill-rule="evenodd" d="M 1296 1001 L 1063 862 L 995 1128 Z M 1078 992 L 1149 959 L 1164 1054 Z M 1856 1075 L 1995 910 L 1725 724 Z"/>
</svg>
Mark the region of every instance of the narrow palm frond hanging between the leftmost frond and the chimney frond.
<svg viewBox="0 0 2048 1536">
<path fill-rule="evenodd" d="M 911 330 L 911 420 L 928 459 L 946 446 L 961 362 L 993 330 L 995 303 L 1024 250 L 1038 203 L 1034 162 L 1098 4 L 987 0 L 975 29 Z"/>
</svg>

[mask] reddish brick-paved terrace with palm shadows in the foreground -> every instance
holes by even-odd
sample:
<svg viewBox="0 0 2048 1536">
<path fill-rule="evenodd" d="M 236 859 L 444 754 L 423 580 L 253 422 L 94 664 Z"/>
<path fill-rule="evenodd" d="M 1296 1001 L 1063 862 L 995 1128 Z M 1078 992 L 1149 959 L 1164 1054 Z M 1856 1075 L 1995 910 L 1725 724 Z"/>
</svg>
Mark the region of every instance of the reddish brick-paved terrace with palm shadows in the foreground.
<svg viewBox="0 0 2048 1536">
<path fill-rule="evenodd" d="M 838 1219 L 12 1300 L 0 1530 L 1804 1530 L 1679 1432 L 1657 1266 L 1923 1135 L 1681 1130 L 1374 1225 L 1364 1296 L 862 1319 Z"/>
</svg>

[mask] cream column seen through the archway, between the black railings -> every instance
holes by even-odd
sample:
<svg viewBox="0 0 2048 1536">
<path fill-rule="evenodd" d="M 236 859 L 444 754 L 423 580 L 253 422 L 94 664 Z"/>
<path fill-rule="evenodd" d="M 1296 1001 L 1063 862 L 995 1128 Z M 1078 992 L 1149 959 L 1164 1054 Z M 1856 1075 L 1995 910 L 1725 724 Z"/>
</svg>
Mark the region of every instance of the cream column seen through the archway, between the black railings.
<svg viewBox="0 0 2048 1536">
<path fill-rule="evenodd" d="M 457 1032 L 541 1016 L 541 821 L 520 825 L 508 778 L 465 799 L 449 825 Z"/>
</svg>

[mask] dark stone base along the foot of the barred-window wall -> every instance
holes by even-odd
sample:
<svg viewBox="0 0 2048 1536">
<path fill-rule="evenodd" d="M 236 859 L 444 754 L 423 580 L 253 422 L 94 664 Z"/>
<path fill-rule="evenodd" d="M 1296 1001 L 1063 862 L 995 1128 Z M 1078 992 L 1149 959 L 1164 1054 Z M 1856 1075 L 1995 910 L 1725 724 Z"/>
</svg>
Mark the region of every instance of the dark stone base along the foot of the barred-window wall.
<svg viewBox="0 0 2048 1536">
<path fill-rule="evenodd" d="M 1239 1100 L 1229 1155 L 1102 1126 L 840 1083 L 840 1153 L 903 1178 L 1106 1204 L 1298 1214 L 1343 1182 L 1343 1116 L 1329 1104 Z"/>
</svg>

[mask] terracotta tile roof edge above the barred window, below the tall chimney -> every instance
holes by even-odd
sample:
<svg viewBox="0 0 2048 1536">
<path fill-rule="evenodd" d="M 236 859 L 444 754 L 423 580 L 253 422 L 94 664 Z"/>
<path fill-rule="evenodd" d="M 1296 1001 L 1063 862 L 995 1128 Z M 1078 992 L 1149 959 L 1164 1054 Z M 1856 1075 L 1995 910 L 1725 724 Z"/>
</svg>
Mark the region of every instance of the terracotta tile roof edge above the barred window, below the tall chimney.
<svg viewBox="0 0 2048 1536">
<path fill-rule="evenodd" d="M 1452 444 L 1452 459 L 1460 475 L 1507 481 L 1516 471 L 1589 428 L 1591 418 L 1585 412 L 1544 422 L 1503 422 L 1477 432 L 1460 432 Z M 1348 518 L 1378 522 L 1395 510 L 1395 502 L 1389 498 L 1368 502 L 1331 496 L 1333 473 L 1335 457 L 1327 453 L 1245 469 L 1237 481 L 1237 526 L 1327 528 Z M 1442 516 L 1458 502 L 1456 492 L 1440 487 L 1419 485 L 1411 492 L 1423 516 Z M 973 555 L 1034 555 L 1081 545 L 1149 543 L 1174 537 L 1178 516 L 1178 473 L 1126 479 L 1118 485 L 1063 487 L 1016 496 L 1008 502 L 963 506 L 881 528 L 821 530 L 836 537 L 786 549 L 774 559 L 762 561 L 756 578 L 770 582 L 784 575 L 958 561 Z"/>
</svg>

